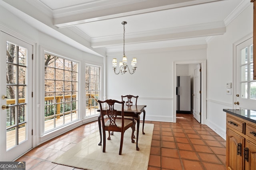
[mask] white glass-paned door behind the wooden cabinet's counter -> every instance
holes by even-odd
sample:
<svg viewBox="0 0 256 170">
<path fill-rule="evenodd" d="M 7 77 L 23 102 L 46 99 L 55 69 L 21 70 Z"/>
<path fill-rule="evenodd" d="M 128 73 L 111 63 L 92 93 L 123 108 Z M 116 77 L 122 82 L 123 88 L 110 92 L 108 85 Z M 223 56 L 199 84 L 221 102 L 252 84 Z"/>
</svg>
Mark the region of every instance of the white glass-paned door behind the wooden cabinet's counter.
<svg viewBox="0 0 256 170">
<path fill-rule="evenodd" d="M 256 109 L 256 80 L 253 80 L 252 37 L 236 45 L 235 109 Z"/>
</svg>

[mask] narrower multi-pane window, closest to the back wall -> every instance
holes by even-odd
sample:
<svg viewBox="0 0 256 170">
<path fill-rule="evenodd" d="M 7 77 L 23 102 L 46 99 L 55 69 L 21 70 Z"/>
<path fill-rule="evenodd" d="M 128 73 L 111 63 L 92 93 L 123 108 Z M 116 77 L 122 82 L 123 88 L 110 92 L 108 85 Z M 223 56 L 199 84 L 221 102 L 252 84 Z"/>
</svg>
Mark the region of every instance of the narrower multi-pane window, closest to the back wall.
<svg viewBox="0 0 256 170">
<path fill-rule="evenodd" d="M 85 66 L 86 117 L 98 115 L 98 99 L 100 95 L 100 67 Z"/>
</svg>

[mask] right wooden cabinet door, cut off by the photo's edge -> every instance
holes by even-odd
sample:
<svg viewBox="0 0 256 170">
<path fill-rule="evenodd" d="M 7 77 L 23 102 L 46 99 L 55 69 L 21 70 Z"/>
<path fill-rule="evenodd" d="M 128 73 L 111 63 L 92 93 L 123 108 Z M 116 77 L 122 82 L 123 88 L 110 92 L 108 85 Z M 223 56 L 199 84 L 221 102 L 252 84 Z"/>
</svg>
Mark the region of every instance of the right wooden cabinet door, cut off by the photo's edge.
<svg viewBox="0 0 256 170">
<path fill-rule="evenodd" d="M 246 154 L 248 160 L 245 160 L 245 170 L 256 170 L 256 144 L 246 140 L 245 148 L 248 149 L 248 154 Z"/>
</svg>

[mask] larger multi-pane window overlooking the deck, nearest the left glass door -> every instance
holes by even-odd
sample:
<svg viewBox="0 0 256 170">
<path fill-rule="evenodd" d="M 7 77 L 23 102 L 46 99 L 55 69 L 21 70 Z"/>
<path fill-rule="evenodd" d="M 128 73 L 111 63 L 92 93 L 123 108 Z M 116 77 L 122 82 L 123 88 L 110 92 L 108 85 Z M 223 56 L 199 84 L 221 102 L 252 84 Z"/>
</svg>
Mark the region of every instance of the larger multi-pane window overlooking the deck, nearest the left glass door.
<svg viewBox="0 0 256 170">
<path fill-rule="evenodd" d="M 78 119 L 78 63 L 44 54 L 44 131 Z"/>
</svg>

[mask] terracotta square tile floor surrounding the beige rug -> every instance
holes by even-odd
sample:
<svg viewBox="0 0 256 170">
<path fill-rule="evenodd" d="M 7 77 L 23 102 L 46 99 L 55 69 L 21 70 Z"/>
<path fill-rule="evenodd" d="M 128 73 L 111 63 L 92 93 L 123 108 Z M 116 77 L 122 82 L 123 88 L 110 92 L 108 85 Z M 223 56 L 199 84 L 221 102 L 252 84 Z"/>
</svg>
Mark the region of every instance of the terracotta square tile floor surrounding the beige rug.
<svg viewBox="0 0 256 170">
<path fill-rule="evenodd" d="M 148 170 L 225 170 L 226 141 L 192 114 L 177 114 L 176 123 L 154 123 Z M 52 139 L 16 161 L 26 170 L 78 170 L 51 161 L 98 131 L 98 121 L 87 123 Z"/>
</svg>

